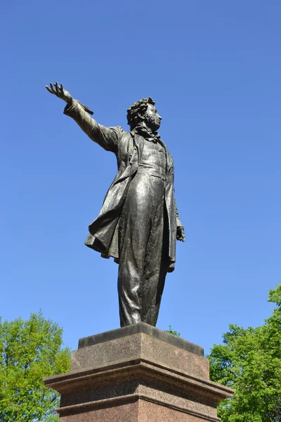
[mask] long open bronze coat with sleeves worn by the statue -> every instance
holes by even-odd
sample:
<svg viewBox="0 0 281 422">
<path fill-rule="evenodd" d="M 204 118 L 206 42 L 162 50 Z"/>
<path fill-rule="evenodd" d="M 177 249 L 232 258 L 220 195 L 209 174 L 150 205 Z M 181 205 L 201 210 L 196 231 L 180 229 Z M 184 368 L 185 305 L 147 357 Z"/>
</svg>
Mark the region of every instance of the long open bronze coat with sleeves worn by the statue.
<svg viewBox="0 0 281 422">
<path fill-rule="evenodd" d="M 84 132 L 106 151 L 112 151 L 117 157 L 118 172 L 112 181 L 103 201 L 98 217 L 89 225 L 89 236 L 85 245 L 97 250 L 105 258 L 119 260 L 119 217 L 132 177 L 138 171 L 143 153 L 143 136 L 134 132 L 125 132 L 122 127 L 105 127 L 89 116 L 78 101 L 66 106 L 64 113 L 72 117 Z M 181 227 L 174 198 L 174 160 L 166 145 L 160 141 L 166 152 L 166 188 L 164 222 L 165 250 L 167 251 L 168 271 L 174 271 L 176 262 L 176 231 Z"/>
</svg>

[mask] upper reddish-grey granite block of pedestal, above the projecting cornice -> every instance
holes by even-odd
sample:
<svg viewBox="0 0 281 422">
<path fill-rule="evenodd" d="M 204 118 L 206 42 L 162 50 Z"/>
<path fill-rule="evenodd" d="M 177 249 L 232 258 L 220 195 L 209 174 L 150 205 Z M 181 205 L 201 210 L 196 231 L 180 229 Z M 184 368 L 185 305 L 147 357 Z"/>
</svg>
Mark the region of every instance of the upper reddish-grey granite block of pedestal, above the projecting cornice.
<svg viewBox="0 0 281 422">
<path fill-rule="evenodd" d="M 192 376 L 209 377 L 209 361 L 204 359 L 202 347 L 148 324 L 136 324 L 94 335 L 79 340 L 79 346 L 91 344 L 95 338 L 108 340 L 79 347 L 72 352 L 71 371 L 144 359 L 157 365 L 185 371 Z"/>
</svg>

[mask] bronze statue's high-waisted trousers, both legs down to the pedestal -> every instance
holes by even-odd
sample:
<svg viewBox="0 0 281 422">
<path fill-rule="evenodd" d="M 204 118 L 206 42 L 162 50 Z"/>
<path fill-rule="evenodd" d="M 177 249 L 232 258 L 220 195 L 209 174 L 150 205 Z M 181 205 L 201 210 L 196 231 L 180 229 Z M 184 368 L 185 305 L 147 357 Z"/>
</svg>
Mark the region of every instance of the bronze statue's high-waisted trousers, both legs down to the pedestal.
<svg viewBox="0 0 281 422">
<path fill-rule="evenodd" d="M 119 221 L 118 293 L 121 326 L 155 326 L 166 277 L 163 247 L 165 181 L 138 172 Z"/>
</svg>

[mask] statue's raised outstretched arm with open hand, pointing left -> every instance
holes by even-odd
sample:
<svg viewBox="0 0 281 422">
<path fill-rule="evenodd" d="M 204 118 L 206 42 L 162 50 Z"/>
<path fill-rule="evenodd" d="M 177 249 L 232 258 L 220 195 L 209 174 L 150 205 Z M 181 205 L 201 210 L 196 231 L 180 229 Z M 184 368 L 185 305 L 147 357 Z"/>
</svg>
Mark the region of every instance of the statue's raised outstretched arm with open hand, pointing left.
<svg viewBox="0 0 281 422">
<path fill-rule="evenodd" d="M 58 82 L 55 82 L 55 84 L 50 84 L 50 87 L 46 85 L 46 89 L 67 103 L 64 110 L 65 115 L 72 117 L 92 141 L 98 143 L 106 151 L 117 152 L 118 141 L 123 132 L 121 127 L 110 128 L 98 124 L 88 114 L 93 114 L 93 111 L 79 101 L 74 100 L 70 92 L 63 88 L 63 84 L 59 85 Z"/>
</svg>

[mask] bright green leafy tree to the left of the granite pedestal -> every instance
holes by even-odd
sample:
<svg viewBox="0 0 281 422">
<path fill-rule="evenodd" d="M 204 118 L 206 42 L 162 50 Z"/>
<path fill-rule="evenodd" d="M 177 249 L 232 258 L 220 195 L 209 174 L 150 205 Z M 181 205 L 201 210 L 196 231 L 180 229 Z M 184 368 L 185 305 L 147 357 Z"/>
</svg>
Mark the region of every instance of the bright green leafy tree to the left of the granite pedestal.
<svg viewBox="0 0 281 422">
<path fill-rule="evenodd" d="M 58 421 L 59 395 L 42 379 L 70 369 L 63 330 L 41 312 L 30 319 L 0 319 L 0 421 Z"/>
</svg>

